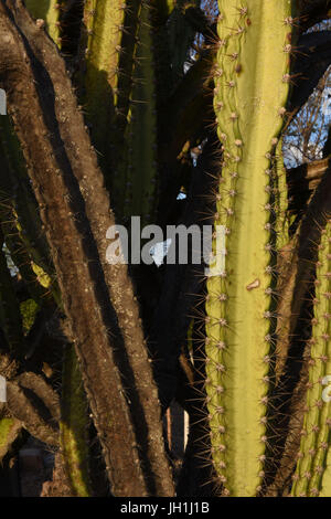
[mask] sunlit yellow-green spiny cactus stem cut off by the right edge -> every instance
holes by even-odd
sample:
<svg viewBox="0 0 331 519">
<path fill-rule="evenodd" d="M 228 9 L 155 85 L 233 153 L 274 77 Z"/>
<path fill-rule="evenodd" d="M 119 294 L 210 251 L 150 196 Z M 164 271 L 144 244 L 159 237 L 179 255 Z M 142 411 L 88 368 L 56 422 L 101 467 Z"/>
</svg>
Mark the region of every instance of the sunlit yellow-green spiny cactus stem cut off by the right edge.
<svg viewBox="0 0 331 519">
<path fill-rule="evenodd" d="M 293 497 L 331 497 L 331 222 L 322 231 L 301 443 Z"/>
</svg>

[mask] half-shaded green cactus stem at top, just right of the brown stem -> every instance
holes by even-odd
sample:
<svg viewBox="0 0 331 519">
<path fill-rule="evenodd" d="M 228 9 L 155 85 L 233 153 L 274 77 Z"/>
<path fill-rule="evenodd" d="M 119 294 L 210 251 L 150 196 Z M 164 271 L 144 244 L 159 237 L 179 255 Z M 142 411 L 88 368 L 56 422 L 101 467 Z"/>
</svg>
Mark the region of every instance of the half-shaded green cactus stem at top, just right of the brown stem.
<svg viewBox="0 0 331 519">
<path fill-rule="evenodd" d="M 124 145 L 140 9 L 140 0 L 87 0 L 84 8 L 83 104 L 108 184 Z"/>
</svg>

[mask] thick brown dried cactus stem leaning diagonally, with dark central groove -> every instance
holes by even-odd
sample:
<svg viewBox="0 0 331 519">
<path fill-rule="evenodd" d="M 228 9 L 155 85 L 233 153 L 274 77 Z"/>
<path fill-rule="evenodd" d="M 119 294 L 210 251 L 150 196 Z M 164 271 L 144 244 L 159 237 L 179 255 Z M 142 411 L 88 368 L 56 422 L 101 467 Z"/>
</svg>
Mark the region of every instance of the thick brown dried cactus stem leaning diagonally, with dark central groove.
<svg viewBox="0 0 331 519">
<path fill-rule="evenodd" d="M 131 283 L 125 266 L 106 264 L 106 231 L 115 222 L 96 156 L 55 45 L 21 1 L 7 6 L 0 4 L 6 56 L 0 84 L 40 204 L 113 492 L 171 495 L 157 389 Z M 119 363 L 130 373 L 127 385 L 137 389 L 131 393 L 138 393 L 143 410 L 140 427 Z"/>
</svg>

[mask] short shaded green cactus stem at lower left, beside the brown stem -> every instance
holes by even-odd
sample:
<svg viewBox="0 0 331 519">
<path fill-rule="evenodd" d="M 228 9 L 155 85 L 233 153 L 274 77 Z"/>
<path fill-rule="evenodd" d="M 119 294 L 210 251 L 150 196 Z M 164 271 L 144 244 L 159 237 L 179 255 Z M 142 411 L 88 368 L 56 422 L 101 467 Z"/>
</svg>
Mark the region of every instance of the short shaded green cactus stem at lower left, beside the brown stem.
<svg viewBox="0 0 331 519">
<path fill-rule="evenodd" d="M 60 445 L 74 494 L 77 497 L 90 496 L 87 402 L 76 353 L 71 345 L 63 361 Z"/>
</svg>

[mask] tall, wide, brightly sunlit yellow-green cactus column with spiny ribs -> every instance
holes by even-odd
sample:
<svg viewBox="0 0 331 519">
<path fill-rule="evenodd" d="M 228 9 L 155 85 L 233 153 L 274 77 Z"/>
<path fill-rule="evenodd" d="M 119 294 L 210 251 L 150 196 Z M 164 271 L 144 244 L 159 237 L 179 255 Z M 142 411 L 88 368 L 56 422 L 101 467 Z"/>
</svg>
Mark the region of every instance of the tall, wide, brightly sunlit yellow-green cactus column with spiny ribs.
<svg viewBox="0 0 331 519">
<path fill-rule="evenodd" d="M 264 479 L 273 352 L 273 163 L 288 96 L 289 0 L 218 0 L 214 108 L 223 144 L 206 299 L 212 457 L 224 495 Z M 217 263 L 217 262 L 216 262 Z"/>
</svg>

